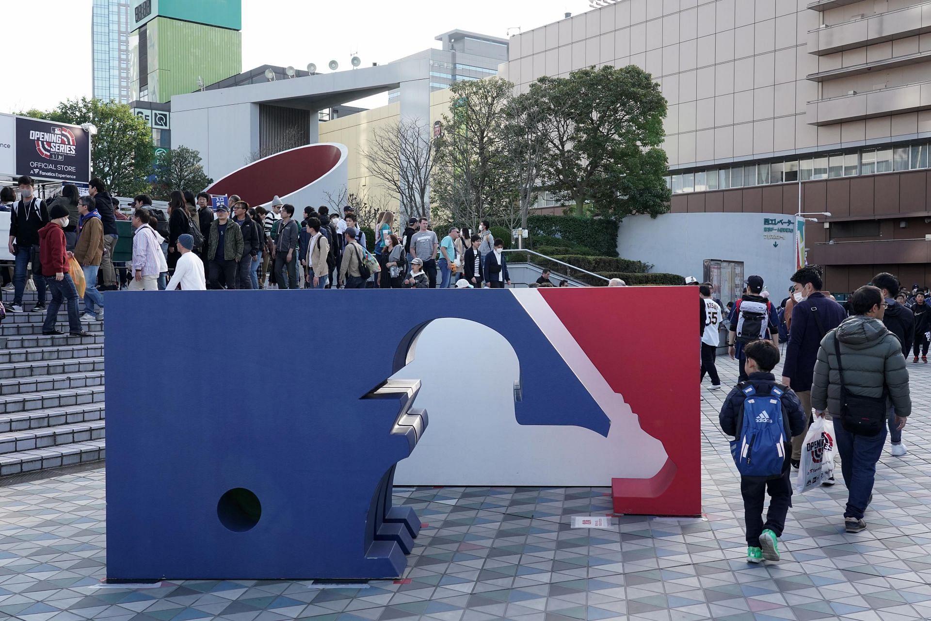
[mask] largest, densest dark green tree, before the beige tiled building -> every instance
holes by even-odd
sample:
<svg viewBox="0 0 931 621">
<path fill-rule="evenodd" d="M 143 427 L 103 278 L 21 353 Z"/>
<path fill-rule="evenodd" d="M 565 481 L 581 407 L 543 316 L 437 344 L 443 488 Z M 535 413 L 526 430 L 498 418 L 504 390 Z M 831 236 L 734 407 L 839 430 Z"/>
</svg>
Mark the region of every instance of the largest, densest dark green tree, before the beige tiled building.
<svg viewBox="0 0 931 621">
<path fill-rule="evenodd" d="M 586 201 L 617 219 L 668 210 L 663 142 L 666 99 L 639 67 L 588 67 L 569 77 L 544 76 L 529 96 L 546 115 L 541 186 L 575 203 Z"/>
</svg>

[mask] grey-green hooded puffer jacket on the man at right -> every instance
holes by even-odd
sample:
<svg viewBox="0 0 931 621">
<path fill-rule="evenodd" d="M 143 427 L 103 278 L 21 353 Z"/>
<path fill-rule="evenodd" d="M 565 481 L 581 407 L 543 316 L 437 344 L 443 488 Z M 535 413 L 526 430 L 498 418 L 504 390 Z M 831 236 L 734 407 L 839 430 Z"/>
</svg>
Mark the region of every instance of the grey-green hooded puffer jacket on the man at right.
<svg viewBox="0 0 931 621">
<path fill-rule="evenodd" d="M 834 340 L 841 343 L 843 385 L 861 397 L 882 397 L 884 386 L 897 416 L 911 413 L 909 371 L 896 335 L 872 317 L 847 317 L 828 332 L 817 352 L 812 378 L 812 406 L 841 413 L 841 376 L 837 370 Z"/>
</svg>

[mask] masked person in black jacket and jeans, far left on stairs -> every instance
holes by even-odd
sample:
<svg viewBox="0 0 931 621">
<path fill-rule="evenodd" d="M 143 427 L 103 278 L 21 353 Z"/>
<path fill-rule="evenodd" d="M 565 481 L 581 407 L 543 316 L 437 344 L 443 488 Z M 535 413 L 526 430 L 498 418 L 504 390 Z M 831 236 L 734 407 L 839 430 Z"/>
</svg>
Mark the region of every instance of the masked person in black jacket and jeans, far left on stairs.
<svg viewBox="0 0 931 621">
<path fill-rule="evenodd" d="M 33 310 L 42 313 L 46 310 L 46 280 L 42 276 L 42 265 L 39 262 L 39 230 L 48 223 L 48 210 L 45 201 L 34 196 L 31 177 L 23 175 L 19 179 L 19 184 L 21 198 L 13 203 L 13 211 L 9 218 L 9 253 L 16 261 L 13 268 L 13 304 L 7 310 L 11 313 L 22 312 L 22 292 L 26 290 L 26 273 L 32 265 L 38 302 Z"/>
</svg>

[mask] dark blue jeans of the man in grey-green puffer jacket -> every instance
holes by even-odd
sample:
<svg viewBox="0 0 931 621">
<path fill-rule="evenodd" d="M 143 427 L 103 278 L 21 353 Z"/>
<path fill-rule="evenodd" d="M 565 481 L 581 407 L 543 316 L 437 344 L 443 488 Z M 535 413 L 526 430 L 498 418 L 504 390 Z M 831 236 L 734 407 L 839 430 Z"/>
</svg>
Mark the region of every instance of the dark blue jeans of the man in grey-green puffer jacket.
<svg viewBox="0 0 931 621">
<path fill-rule="evenodd" d="M 843 428 L 840 417 L 834 418 L 834 437 L 837 452 L 841 453 L 841 472 L 847 486 L 847 508 L 844 518 L 863 518 L 870 504 L 873 480 L 876 478 L 876 462 L 883 454 L 886 429 L 875 436 L 857 436 Z"/>
</svg>

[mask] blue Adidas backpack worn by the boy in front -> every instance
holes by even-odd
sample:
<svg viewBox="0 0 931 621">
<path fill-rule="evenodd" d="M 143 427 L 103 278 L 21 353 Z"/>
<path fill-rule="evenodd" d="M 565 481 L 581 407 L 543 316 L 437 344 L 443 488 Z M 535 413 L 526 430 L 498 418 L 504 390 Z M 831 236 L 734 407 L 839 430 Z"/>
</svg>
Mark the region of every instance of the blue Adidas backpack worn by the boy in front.
<svg viewBox="0 0 931 621">
<path fill-rule="evenodd" d="M 786 426 L 782 395 L 786 386 L 774 385 L 769 395 L 758 395 L 749 382 L 737 386 L 744 394 L 744 411 L 731 440 L 731 454 L 744 477 L 776 477 L 786 460 Z"/>
</svg>

